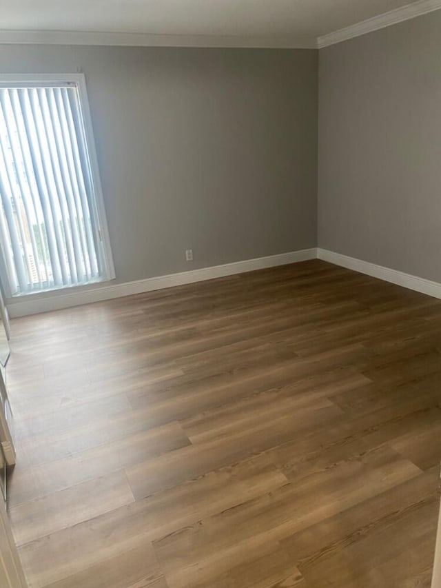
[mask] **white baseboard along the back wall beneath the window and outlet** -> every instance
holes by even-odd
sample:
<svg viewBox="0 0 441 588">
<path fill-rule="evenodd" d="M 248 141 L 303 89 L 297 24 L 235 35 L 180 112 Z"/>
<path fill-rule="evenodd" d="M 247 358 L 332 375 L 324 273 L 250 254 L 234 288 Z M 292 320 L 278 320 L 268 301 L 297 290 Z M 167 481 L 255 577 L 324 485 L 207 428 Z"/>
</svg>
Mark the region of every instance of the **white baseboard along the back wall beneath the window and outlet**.
<svg viewBox="0 0 441 588">
<path fill-rule="evenodd" d="M 95 285 L 94 287 L 88 287 L 82 290 L 75 288 L 63 290 L 59 293 L 52 291 L 50 294 L 28 294 L 21 298 L 10 298 L 7 301 L 7 305 L 11 318 L 16 318 L 28 314 L 37 314 L 39 312 L 60 310 L 61 308 L 110 300 L 110 298 L 120 298 L 121 296 L 130 296 L 131 294 L 141 294 L 142 292 L 151 292 L 152 290 L 191 284 L 212 278 L 252 272 L 253 270 L 262 270 L 265 267 L 307 261 L 308 259 L 316 259 L 316 257 L 316 247 L 312 247 L 311 249 L 291 251 L 278 255 L 247 259 L 246 261 L 236 261 L 234 263 L 225 263 L 224 265 L 203 267 L 200 270 L 168 274 L 167 276 L 146 278 L 144 280 L 122 284 L 106 283 L 105 285 Z"/>
</svg>

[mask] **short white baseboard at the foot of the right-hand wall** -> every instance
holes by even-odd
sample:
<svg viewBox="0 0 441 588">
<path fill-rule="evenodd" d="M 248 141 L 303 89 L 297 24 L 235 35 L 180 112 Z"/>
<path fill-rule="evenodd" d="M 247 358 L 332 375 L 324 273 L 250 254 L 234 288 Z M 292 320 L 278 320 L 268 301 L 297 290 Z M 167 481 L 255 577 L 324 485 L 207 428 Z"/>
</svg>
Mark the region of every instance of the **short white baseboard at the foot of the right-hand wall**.
<svg viewBox="0 0 441 588">
<path fill-rule="evenodd" d="M 418 276 L 412 276 L 411 274 L 404 274 L 404 272 L 391 270 L 390 267 L 376 265 L 376 263 L 362 261 L 362 259 L 349 257 L 341 253 L 321 249 L 320 247 L 317 249 L 317 257 L 323 261 L 329 261 L 329 263 L 347 267 L 348 270 L 367 274 L 368 276 L 373 276 L 373 278 L 380 278 L 380 280 L 391 282 L 398 286 L 409 288 L 409 290 L 421 292 L 422 294 L 428 294 L 434 298 L 441 298 L 441 283 L 438 282 L 418 278 Z"/>
</svg>

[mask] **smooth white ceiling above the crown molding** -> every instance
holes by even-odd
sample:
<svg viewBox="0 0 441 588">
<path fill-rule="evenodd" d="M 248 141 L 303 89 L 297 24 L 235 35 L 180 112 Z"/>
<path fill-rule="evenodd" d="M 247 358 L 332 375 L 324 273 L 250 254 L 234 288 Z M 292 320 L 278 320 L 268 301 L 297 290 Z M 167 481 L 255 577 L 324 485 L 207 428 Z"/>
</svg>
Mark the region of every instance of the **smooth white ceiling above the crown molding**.
<svg viewBox="0 0 441 588">
<path fill-rule="evenodd" d="M 427 3 L 429 0 L 423 0 Z M 0 30 L 291 39 L 318 37 L 422 0 L 0 0 Z M 277 44 L 277 43 L 276 43 Z"/>
</svg>

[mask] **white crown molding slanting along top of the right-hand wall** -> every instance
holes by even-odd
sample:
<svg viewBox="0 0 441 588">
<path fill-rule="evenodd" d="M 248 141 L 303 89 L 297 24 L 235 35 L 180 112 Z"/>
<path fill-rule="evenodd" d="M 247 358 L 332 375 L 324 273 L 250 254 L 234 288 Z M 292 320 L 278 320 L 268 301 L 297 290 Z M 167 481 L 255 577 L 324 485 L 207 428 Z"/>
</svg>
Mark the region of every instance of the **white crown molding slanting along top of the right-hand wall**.
<svg viewBox="0 0 441 588">
<path fill-rule="evenodd" d="M 328 45 L 335 45 L 353 37 L 360 37 L 362 34 L 372 32 L 380 28 L 385 28 L 403 21 L 420 17 L 422 14 L 433 12 L 433 10 L 440 10 L 441 0 L 418 0 L 401 8 L 378 14 L 378 17 L 373 17 L 360 23 L 356 23 L 346 28 L 324 34 L 317 39 L 317 47 L 322 49 Z"/>
</svg>

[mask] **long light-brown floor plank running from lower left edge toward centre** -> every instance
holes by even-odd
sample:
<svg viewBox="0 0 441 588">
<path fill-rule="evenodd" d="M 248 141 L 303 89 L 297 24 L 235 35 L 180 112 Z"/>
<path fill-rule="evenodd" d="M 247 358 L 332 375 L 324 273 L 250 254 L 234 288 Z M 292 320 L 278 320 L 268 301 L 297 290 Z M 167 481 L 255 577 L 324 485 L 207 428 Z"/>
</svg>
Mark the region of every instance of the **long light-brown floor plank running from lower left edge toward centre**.
<svg viewBox="0 0 441 588">
<path fill-rule="evenodd" d="M 84 567 L 142 549 L 176 528 L 193 525 L 201 518 L 246 503 L 287 483 L 287 478 L 269 460 L 250 460 L 32 541 L 21 547 L 21 557 L 41 582 L 51 580 L 57 570 L 59 575 L 76 575 Z M 225 492 L 225 488 L 231 491 Z M 48 551 L 49 570 L 45 561 Z M 68 560 L 66 553 L 70 554 Z"/>
</svg>

